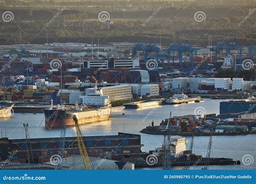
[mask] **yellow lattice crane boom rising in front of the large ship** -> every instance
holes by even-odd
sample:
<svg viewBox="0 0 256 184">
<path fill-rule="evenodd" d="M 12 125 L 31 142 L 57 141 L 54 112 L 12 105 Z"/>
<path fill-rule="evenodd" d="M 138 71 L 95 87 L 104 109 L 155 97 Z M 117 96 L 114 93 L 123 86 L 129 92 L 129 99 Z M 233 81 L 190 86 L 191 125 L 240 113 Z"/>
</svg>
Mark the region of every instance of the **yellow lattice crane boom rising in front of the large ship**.
<svg viewBox="0 0 256 184">
<path fill-rule="evenodd" d="M 83 134 L 80 129 L 80 125 L 78 123 L 78 119 L 77 119 L 76 115 L 73 115 L 73 121 L 75 122 L 75 128 L 76 128 L 76 133 L 77 133 L 77 144 L 78 144 L 78 148 L 80 151 L 80 155 L 81 155 L 83 163 L 84 163 L 84 168 L 86 170 L 94 169 L 96 167 L 95 167 L 95 164 L 93 163 L 93 161 L 90 160 L 90 158 L 87 154 L 86 147 L 85 147 L 84 140 L 83 140 Z"/>
</svg>

